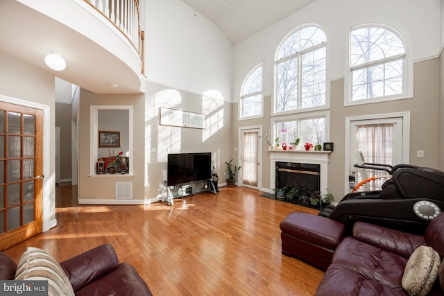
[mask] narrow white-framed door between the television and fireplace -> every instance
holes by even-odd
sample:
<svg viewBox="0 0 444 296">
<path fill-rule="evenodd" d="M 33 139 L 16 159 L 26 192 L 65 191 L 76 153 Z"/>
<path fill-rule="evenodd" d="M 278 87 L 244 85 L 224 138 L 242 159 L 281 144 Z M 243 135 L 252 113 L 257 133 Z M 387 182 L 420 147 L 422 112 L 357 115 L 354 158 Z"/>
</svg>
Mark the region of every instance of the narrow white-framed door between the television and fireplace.
<svg viewBox="0 0 444 296">
<path fill-rule="evenodd" d="M 260 189 L 262 163 L 262 127 L 240 128 L 239 159 L 241 166 L 241 186 Z"/>
</svg>

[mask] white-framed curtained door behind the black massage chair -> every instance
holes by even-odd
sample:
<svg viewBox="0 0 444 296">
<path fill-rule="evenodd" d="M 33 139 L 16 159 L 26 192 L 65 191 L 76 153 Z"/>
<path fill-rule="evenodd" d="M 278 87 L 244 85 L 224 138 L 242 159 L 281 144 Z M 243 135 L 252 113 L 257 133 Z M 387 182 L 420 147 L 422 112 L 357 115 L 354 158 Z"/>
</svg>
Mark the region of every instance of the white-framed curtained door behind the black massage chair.
<svg viewBox="0 0 444 296">
<path fill-rule="evenodd" d="M 364 183 L 358 191 L 379 190 L 390 174 L 377 169 L 356 168 L 354 165 L 361 162 L 389 166 L 407 164 L 409 162 L 409 114 L 361 116 L 348 118 L 347 122 L 349 127 L 347 175 L 355 176 L 355 184 L 375 177 L 375 180 Z"/>
</svg>

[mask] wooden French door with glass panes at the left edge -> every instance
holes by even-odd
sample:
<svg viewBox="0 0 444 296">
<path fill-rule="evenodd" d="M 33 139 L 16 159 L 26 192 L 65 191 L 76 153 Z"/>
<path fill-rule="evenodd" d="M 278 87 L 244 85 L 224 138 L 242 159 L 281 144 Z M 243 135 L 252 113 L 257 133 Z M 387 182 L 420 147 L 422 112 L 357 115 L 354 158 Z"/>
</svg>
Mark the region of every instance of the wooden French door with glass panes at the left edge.
<svg viewBox="0 0 444 296">
<path fill-rule="evenodd" d="M 0 102 L 0 250 L 42 232 L 42 119 Z"/>
</svg>

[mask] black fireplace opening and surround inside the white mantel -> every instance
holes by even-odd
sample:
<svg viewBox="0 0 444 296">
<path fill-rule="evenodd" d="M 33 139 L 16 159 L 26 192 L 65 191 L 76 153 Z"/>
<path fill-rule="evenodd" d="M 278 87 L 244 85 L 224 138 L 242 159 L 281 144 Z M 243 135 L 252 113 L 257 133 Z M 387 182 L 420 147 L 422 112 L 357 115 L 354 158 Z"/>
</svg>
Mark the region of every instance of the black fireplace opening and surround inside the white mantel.
<svg viewBox="0 0 444 296">
<path fill-rule="evenodd" d="M 275 162 L 275 186 L 321 191 L 321 165 Z"/>
</svg>

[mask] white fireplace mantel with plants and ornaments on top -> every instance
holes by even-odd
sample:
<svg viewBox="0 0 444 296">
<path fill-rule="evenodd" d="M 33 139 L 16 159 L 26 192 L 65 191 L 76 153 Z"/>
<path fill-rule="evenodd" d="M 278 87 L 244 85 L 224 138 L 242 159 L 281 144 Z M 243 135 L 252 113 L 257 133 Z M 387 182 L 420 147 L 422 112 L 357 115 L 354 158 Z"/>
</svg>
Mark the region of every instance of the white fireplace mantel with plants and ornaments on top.
<svg viewBox="0 0 444 296">
<path fill-rule="evenodd" d="M 301 164 L 319 164 L 321 194 L 327 193 L 328 157 L 331 151 L 305 150 L 268 150 L 270 153 L 270 192 L 275 189 L 276 162 L 299 162 Z"/>
</svg>

